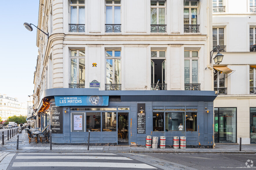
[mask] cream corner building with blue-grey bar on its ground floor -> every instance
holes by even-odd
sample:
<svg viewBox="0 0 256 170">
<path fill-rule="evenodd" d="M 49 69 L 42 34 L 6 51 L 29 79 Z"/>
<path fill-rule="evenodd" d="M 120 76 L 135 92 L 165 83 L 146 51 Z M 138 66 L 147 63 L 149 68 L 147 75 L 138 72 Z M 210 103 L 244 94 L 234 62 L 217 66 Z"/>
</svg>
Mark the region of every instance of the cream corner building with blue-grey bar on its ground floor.
<svg viewBox="0 0 256 170">
<path fill-rule="evenodd" d="M 37 32 L 34 109 L 53 143 L 87 143 L 90 130 L 95 145 L 145 145 L 151 135 L 213 146 L 209 0 L 40 4 L 49 38 Z"/>
</svg>

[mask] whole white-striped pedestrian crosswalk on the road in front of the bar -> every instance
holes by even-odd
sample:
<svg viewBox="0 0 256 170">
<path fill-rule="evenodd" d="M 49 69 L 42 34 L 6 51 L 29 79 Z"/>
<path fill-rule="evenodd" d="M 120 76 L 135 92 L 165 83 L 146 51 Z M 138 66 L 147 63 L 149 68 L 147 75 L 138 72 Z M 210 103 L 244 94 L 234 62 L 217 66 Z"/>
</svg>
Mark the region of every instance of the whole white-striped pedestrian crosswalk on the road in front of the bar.
<svg viewBox="0 0 256 170">
<path fill-rule="evenodd" d="M 106 168 L 136 168 L 136 169 L 157 169 L 151 165 L 138 160 L 127 158 L 112 153 L 18 153 L 10 163 L 8 170 L 12 169 L 31 169 L 40 170 L 54 169 L 100 169 Z M 72 168 L 71 168 L 72 167 Z"/>
</svg>

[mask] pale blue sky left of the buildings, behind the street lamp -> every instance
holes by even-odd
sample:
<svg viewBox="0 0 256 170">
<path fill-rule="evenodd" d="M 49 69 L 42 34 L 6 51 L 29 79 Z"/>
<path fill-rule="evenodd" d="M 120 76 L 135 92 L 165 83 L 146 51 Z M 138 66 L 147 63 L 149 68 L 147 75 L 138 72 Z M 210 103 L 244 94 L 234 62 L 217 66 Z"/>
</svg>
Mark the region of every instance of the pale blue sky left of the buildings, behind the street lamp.
<svg viewBox="0 0 256 170">
<path fill-rule="evenodd" d="M 15 0 L 0 10 L 0 94 L 26 102 L 33 94 L 37 60 L 37 29 L 23 23 L 38 23 L 39 0 Z"/>
</svg>

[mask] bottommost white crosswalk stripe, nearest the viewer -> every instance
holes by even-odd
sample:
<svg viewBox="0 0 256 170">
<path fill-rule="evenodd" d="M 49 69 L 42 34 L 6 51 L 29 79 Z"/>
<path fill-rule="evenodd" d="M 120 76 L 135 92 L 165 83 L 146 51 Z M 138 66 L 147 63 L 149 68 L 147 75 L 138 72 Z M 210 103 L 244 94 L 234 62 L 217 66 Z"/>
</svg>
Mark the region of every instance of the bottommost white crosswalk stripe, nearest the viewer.
<svg viewBox="0 0 256 170">
<path fill-rule="evenodd" d="M 13 162 L 12 167 L 111 167 L 157 169 L 147 164 L 117 162 Z"/>
</svg>

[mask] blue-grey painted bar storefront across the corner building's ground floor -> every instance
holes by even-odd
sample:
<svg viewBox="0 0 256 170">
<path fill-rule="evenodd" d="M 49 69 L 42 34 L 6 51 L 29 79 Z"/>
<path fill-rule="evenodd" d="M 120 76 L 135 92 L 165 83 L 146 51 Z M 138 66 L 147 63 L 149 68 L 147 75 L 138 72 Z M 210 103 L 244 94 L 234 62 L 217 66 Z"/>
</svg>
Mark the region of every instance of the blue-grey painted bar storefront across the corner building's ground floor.
<svg viewBox="0 0 256 170">
<path fill-rule="evenodd" d="M 88 130 L 90 143 L 95 145 L 119 145 L 119 115 L 127 116 L 127 140 L 129 145 L 145 145 L 146 136 L 165 136 L 166 145 L 173 144 L 173 136 L 185 136 L 188 147 L 212 147 L 214 108 L 213 100 L 217 97 L 214 91 L 196 90 L 134 90 L 134 91 L 101 91 L 98 89 L 71 89 L 55 88 L 44 91 L 44 97 L 50 101 L 50 108 L 59 108 L 60 129 L 54 132 L 53 121 L 56 115 L 51 115 L 50 121 L 53 143 L 87 143 Z M 104 106 L 88 106 L 84 103 L 60 104 L 56 99 L 73 96 L 103 96 L 108 97 Z M 79 100 L 78 100 L 79 102 Z M 105 101 L 106 102 L 106 101 Z M 77 106 L 74 106 L 77 105 Z M 141 107 L 142 106 L 142 107 Z M 55 108 L 54 108 L 55 109 Z M 143 110 L 145 121 L 142 131 L 138 131 L 141 119 L 138 120 L 138 111 Z M 207 110 L 209 112 L 207 113 Z M 53 112 L 51 111 L 50 114 Z M 49 113 L 48 113 L 49 114 Z M 111 127 L 106 127 L 106 116 L 112 114 L 117 120 Z M 99 130 L 95 126 L 89 127 L 89 115 L 93 115 L 94 123 L 97 121 Z M 95 116 L 96 115 L 96 116 Z M 78 117 L 76 119 L 76 117 Z M 80 118 L 79 118 L 80 117 Z M 95 121 L 95 119 L 97 119 Z M 77 124 L 78 122 L 78 124 Z M 180 125 L 183 126 L 182 130 Z M 79 126 L 81 125 L 81 127 Z M 113 125 L 116 128 L 113 128 Z M 179 126 L 179 128 L 178 128 Z M 55 126 L 56 127 L 56 126 Z M 107 129 L 107 130 L 106 130 Z M 111 129 L 111 130 L 109 130 Z M 143 131 L 143 129 L 145 131 Z"/>
</svg>

